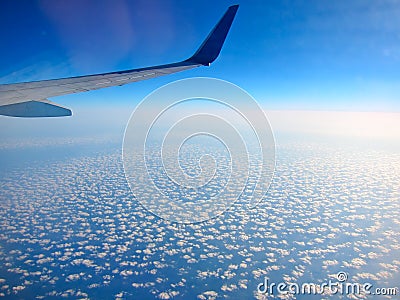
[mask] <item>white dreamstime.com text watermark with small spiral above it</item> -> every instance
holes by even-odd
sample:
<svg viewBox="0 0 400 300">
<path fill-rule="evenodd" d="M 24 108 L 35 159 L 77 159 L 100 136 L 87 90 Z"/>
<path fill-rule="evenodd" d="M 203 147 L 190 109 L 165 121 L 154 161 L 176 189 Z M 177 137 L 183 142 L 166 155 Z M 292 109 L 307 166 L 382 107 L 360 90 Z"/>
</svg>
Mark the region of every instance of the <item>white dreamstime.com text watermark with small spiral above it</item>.
<svg viewBox="0 0 400 300">
<path fill-rule="evenodd" d="M 286 283 L 286 282 L 270 282 L 268 278 L 264 278 L 264 282 L 258 284 L 257 292 L 265 296 L 272 295 L 397 295 L 397 287 L 374 288 L 372 283 L 350 282 L 346 272 L 336 274 L 336 280 L 328 280 L 323 283 Z"/>
</svg>

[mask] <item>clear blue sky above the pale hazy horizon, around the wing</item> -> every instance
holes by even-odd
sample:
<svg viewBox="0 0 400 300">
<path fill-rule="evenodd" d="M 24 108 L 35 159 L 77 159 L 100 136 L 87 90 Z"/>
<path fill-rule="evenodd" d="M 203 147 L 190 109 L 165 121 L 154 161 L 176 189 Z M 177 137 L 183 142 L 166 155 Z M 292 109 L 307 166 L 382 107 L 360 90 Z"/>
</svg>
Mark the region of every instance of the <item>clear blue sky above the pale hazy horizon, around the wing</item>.
<svg viewBox="0 0 400 300">
<path fill-rule="evenodd" d="M 400 111 L 399 1 L 0 1 L 0 82 L 163 64 L 190 56 L 240 4 L 209 67 L 58 97 L 137 103 L 176 79 L 229 80 L 267 109 Z"/>
</svg>

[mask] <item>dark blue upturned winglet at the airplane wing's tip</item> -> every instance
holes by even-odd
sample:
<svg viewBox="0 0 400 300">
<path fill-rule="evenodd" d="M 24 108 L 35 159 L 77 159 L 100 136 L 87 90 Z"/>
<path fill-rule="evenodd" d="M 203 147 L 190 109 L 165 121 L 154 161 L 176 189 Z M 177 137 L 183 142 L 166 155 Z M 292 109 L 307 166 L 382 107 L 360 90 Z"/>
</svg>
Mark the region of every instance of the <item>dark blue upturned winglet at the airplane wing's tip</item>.
<svg viewBox="0 0 400 300">
<path fill-rule="evenodd" d="M 209 66 L 218 57 L 238 8 L 239 5 L 232 5 L 228 8 L 196 53 L 186 60 L 187 62 Z"/>
</svg>

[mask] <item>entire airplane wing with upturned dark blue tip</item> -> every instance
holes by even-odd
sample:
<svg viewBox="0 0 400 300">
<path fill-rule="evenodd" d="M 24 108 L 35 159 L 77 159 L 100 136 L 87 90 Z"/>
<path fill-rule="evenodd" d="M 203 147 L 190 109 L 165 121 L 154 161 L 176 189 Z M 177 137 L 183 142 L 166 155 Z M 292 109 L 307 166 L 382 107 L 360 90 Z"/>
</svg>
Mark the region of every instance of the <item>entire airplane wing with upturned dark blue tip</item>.
<svg viewBox="0 0 400 300">
<path fill-rule="evenodd" d="M 71 110 L 47 98 L 124 85 L 199 66 L 209 66 L 221 51 L 238 7 L 230 6 L 195 54 L 181 62 L 96 75 L 0 84 L 0 115 L 31 118 L 70 116 Z"/>
</svg>

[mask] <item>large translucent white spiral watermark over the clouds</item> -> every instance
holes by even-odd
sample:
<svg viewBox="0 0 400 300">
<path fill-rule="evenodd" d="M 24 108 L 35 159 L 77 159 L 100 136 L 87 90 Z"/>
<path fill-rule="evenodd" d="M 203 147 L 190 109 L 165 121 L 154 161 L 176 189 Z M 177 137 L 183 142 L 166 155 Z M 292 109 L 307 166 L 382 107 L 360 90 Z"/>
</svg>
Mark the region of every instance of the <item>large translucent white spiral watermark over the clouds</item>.
<svg viewBox="0 0 400 300">
<path fill-rule="evenodd" d="M 175 81 L 149 94 L 127 124 L 123 164 L 136 199 L 179 223 L 208 220 L 238 199 L 255 206 L 275 168 L 271 127 L 238 86 Z"/>
</svg>

